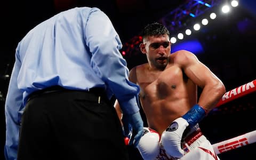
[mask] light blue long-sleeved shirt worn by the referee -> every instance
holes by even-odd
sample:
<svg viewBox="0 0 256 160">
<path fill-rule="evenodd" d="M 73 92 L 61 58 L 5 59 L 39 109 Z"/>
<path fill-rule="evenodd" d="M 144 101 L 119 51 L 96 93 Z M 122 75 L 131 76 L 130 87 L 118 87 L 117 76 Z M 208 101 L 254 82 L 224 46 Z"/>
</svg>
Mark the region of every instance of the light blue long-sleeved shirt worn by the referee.
<svg viewBox="0 0 256 160">
<path fill-rule="evenodd" d="M 122 43 L 105 13 L 76 7 L 40 23 L 20 41 L 5 103 L 7 159 L 17 158 L 21 114 L 28 95 L 52 85 L 114 94 L 125 114 L 139 111 L 139 86 L 119 50 Z"/>
</svg>

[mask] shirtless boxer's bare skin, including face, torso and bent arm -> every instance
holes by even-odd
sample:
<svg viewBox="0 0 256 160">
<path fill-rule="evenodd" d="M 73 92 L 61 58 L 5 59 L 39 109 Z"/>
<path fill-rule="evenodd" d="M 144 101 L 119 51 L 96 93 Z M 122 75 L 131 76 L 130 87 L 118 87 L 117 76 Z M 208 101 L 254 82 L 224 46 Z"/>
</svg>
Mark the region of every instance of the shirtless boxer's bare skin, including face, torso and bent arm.
<svg viewBox="0 0 256 160">
<path fill-rule="evenodd" d="M 171 54 L 169 36 L 148 36 L 140 49 L 148 63 L 132 68 L 129 79 L 140 86 L 148 127 L 160 135 L 196 103 L 210 111 L 226 92 L 220 79 L 193 53 L 180 50 Z M 199 101 L 197 86 L 203 89 Z M 118 102 L 115 108 L 121 118 Z"/>
</svg>

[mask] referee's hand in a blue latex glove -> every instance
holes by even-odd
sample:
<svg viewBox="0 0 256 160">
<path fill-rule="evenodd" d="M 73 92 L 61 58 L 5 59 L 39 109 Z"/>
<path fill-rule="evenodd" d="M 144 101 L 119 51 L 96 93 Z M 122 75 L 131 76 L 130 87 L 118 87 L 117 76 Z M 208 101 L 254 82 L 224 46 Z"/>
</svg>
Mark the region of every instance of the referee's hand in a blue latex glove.
<svg viewBox="0 0 256 160">
<path fill-rule="evenodd" d="M 134 113 L 132 115 L 124 114 L 122 118 L 124 136 L 129 137 L 129 145 L 134 145 L 137 147 L 140 138 L 143 134 L 143 121 L 140 112 Z"/>
</svg>

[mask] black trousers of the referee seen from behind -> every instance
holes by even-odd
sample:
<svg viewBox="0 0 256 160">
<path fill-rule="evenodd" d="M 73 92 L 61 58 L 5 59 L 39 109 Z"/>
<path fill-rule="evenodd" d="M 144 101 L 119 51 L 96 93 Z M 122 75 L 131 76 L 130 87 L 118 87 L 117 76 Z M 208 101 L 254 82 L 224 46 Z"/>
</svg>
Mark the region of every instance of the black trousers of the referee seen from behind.
<svg viewBox="0 0 256 160">
<path fill-rule="evenodd" d="M 38 93 L 22 115 L 18 160 L 129 159 L 115 108 L 100 93 Z"/>
</svg>

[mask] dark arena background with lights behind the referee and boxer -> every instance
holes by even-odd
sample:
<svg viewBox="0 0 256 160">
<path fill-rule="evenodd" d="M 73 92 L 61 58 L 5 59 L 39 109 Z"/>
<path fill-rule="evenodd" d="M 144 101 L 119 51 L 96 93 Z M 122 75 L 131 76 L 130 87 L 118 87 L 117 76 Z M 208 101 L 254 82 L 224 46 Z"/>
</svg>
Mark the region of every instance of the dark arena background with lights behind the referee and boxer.
<svg viewBox="0 0 256 160">
<path fill-rule="evenodd" d="M 221 79 L 227 91 L 256 79 L 256 1 L 4 1 L 0 10 L 0 159 L 4 159 L 4 101 L 14 64 L 15 48 L 21 38 L 38 23 L 75 6 L 99 7 L 109 16 L 121 37 L 123 49 L 120 52 L 129 69 L 147 61 L 139 50 L 140 31 L 148 23 L 157 21 L 170 31 L 171 52 L 185 49 L 195 53 Z M 215 13 L 215 18 L 211 13 Z M 199 29 L 194 28 L 196 23 Z M 186 35 L 187 29 L 190 29 L 191 35 Z M 255 95 L 252 92 L 220 105 L 203 119 L 201 129 L 212 144 L 256 130 Z M 143 110 L 141 114 L 145 118 Z M 223 160 L 255 159 L 255 148 L 256 143 L 238 146 L 236 149 L 226 149 L 229 151 L 218 156 Z M 138 150 L 129 146 L 129 151 L 131 159 L 142 159 Z"/>
</svg>

